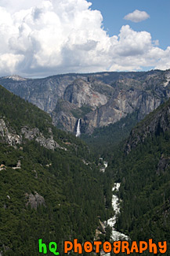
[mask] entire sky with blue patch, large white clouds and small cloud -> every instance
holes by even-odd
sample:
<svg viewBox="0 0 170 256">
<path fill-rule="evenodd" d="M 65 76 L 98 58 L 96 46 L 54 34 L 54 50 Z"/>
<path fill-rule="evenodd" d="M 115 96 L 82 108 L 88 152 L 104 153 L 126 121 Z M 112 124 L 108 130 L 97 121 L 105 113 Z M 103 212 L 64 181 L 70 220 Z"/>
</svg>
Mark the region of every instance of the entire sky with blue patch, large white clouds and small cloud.
<svg viewBox="0 0 170 256">
<path fill-rule="evenodd" d="M 0 0 L 0 76 L 170 69 L 169 0 Z"/>
</svg>

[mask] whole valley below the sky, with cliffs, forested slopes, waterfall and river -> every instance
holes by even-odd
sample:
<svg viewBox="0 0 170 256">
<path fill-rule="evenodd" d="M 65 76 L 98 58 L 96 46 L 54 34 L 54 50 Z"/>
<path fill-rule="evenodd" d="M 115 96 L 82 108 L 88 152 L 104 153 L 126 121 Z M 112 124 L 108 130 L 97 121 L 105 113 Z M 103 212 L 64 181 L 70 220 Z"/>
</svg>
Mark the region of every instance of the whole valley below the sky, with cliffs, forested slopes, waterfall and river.
<svg viewBox="0 0 170 256">
<path fill-rule="evenodd" d="M 63 254 L 96 229 L 103 243 L 170 247 L 169 74 L 0 79 L 3 256 L 36 255 L 38 239 Z"/>
</svg>

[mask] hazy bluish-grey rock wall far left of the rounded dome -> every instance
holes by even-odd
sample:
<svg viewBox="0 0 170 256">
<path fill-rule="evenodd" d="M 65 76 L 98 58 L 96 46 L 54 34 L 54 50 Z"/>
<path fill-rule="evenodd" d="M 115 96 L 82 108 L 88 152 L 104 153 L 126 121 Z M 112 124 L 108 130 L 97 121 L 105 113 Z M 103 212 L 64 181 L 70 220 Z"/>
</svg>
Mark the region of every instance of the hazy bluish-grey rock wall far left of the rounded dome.
<svg viewBox="0 0 170 256">
<path fill-rule="evenodd" d="M 0 84 L 15 95 L 51 113 L 56 107 L 58 98 L 63 97 L 68 84 L 74 81 L 73 76 L 50 76 L 44 79 L 25 79 L 19 76 L 6 76 L 0 79 Z"/>
</svg>

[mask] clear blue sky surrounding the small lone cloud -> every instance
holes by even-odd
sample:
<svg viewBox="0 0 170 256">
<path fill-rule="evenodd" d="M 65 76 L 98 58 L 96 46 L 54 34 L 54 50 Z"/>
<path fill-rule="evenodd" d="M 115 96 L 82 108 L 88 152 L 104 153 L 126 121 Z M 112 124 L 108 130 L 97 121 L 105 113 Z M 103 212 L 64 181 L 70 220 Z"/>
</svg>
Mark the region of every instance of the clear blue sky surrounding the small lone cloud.
<svg viewBox="0 0 170 256">
<path fill-rule="evenodd" d="M 159 40 L 162 49 L 170 45 L 170 1 L 169 0 L 90 0 L 92 9 L 99 9 L 103 25 L 110 36 L 118 35 L 121 27 L 129 24 L 135 31 L 150 32 Z M 124 20 L 135 9 L 146 11 L 150 18 L 139 23 Z"/>
</svg>

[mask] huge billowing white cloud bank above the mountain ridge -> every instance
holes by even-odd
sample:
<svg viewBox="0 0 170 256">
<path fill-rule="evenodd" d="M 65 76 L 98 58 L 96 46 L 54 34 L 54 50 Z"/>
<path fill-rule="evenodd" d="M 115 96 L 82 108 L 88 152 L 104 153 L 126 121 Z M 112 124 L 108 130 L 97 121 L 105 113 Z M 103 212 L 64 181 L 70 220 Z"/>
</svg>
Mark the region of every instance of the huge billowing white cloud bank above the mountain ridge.
<svg viewBox="0 0 170 256">
<path fill-rule="evenodd" d="M 110 37 L 86 0 L 2 0 L 1 6 L 0 76 L 170 67 L 169 47 L 161 50 L 149 32 L 129 25 Z"/>
</svg>

